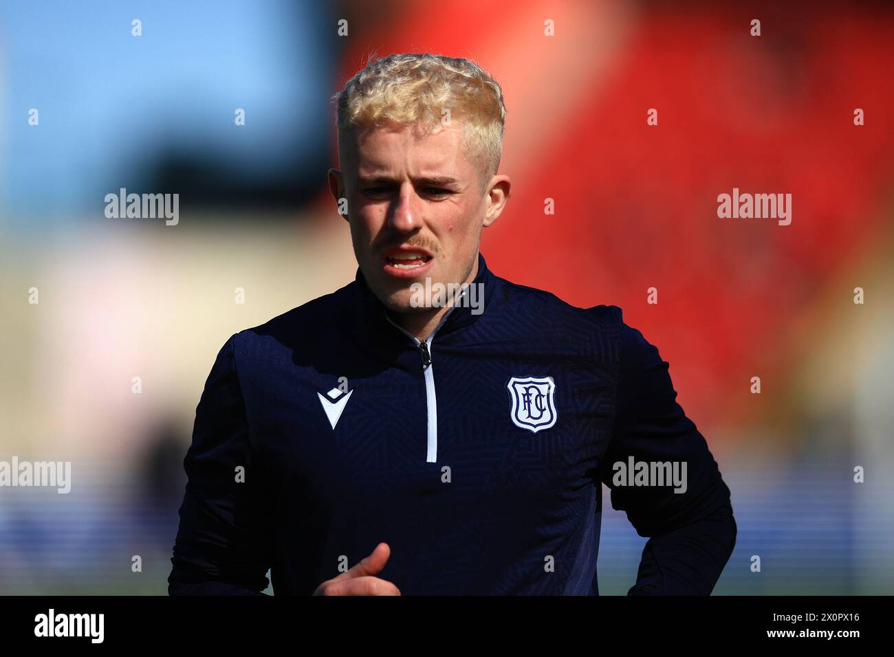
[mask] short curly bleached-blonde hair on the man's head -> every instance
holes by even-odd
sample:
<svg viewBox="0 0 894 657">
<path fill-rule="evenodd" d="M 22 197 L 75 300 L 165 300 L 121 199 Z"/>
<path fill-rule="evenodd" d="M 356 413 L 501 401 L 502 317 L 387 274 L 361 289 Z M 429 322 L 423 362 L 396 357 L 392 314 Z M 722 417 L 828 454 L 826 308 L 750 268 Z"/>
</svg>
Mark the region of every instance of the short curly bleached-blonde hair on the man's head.
<svg viewBox="0 0 894 657">
<path fill-rule="evenodd" d="M 399 53 L 374 60 L 332 97 L 339 152 L 350 131 L 380 122 L 434 128 L 450 111 L 460 119 L 463 148 L 482 166 L 482 180 L 497 172 L 502 156 L 506 106 L 502 89 L 477 63 L 462 57 Z"/>
</svg>

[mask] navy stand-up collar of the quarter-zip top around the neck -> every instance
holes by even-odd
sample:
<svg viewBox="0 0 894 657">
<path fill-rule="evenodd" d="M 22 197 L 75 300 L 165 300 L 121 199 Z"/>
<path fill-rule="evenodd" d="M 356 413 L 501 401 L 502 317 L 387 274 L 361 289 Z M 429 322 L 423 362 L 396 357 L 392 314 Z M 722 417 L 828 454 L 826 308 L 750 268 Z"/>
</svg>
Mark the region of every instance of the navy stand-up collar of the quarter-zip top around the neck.
<svg viewBox="0 0 894 657">
<path fill-rule="evenodd" d="M 363 307 L 363 310 L 373 318 L 372 324 L 375 324 L 376 326 L 384 324 L 384 327 L 389 331 L 393 331 L 394 326 L 401 328 L 393 322 L 390 316 L 391 313 L 384 307 L 382 301 L 375 296 L 375 292 L 369 287 L 367 279 L 363 275 L 363 272 L 360 271 L 359 267 L 357 268 L 357 274 L 355 274 L 354 280 L 357 282 L 360 304 Z M 453 307 L 444 314 L 441 323 L 438 324 L 437 328 L 435 328 L 434 332 L 429 336 L 429 341 L 434 337 L 435 333 L 437 333 L 439 337 L 443 337 L 464 326 L 474 324 L 478 317 L 483 316 L 487 312 L 488 303 L 493 295 L 495 283 L 496 276 L 494 276 L 493 272 L 487 268 L 485 257 L 479 252 L 478 272 L 475 276 L 475 280 L 469 284 L 468 288 L 463 291 L 461 295 L 457 295 L 457 298 L 454 299 Z M 474 291 L 472 290 L 473 286 L 475 286 Z M 472 294 L 476 296 L 469 296 Z M 472 307 L 470 303 L 471 301 L 476 301 L 478 307 Z M 390 326 L 389 324 L 394 324 L 394 326 Z M 404 331 L 404 333 L 413 337 L 406 331 Z"/>
</svg>

